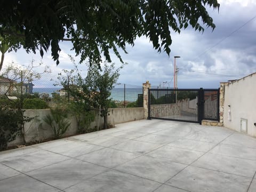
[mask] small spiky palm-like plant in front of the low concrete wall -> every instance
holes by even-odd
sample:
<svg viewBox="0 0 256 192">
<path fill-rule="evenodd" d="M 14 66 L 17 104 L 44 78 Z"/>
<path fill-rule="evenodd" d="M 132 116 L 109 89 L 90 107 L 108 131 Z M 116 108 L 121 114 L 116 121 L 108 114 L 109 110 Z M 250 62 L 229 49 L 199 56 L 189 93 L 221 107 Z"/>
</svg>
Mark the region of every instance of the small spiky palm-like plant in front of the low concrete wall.
<svg viewBox="0 0 256 192">
<path fill-rule="evenodd" d="M 49 124 L 53 130 L 54 137 L 60 138 L 70 126 L 70 122 L 67 120 L 67 110 L 61 108 L 51 109 L 51 115 L 46 115 L 43 121 Z"/>
</svg>

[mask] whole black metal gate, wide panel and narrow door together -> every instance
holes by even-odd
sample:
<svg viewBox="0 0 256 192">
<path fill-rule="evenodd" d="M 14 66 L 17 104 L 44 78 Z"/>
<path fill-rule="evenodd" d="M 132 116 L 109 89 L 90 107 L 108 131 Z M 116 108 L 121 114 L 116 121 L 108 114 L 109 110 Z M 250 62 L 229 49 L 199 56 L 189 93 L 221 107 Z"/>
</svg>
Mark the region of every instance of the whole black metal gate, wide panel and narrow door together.
<svg viewBox="0 0 256 192">
<path fill-rule="evenodd" d="M 219 89 L 149 89 L 148 117 L 200 123 L 219 121 Z"/>
</svg>

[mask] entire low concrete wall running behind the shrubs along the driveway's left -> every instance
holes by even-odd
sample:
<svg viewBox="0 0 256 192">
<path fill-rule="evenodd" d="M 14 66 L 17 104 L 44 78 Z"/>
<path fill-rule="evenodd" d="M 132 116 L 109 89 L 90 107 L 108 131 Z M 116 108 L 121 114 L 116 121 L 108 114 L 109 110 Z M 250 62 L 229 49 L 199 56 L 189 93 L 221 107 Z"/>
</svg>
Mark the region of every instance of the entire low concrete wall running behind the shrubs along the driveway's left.
<svg viewBox="0 0 256 192">
<path fill-rule="evenodd" d="M 54 138 L 54 133 L 50 125 L 43 121 L 46 115 L 50 115 L 50 109 L 26 109 L 25 116 L 35 117 L 32 121 L 25 124 L 25 139 L 26 142 L 40 141 L 49 138 Z M 110 108 L 108 123 L 115 125 L 118 123 L 124 123 L 129 121 L 135 121 L 144 118 L 143 107 L 138 108 Z M 77 132 L 77 123 L 75 117 L 68 117 L 68 121 L 71 123 L 69 129 L 63 136 L 74 135 Z M 95 121 L 91 123 L 91 128 L 97 128 L 98 123 L 100 128 L 103 127 L 103 118 L 100 117 L 99 111 L 95 110 Z M 21 135 L 13 142 L 9 143 L 9 146 L 23 145 L 23 139 Z"/>
</svg>

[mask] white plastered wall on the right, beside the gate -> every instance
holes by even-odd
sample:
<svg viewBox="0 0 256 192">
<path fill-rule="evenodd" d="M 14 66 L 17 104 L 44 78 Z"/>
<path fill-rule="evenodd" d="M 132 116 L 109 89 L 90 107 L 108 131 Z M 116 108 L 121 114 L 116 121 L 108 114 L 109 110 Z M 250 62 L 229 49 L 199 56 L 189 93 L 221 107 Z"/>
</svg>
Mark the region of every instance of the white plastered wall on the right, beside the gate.
<svg viewBox="0 0 256 192">
<path fill-rule="evenodd" d="M 256 123 L 255 88 L 256 73 L 225 85 L 225 94 L 223 95 L 223 125 L 225 127 L 246 133 L 247 120 L 247 134 L 256 137 L 256 126 L 254 125 Z"/>
</svg>

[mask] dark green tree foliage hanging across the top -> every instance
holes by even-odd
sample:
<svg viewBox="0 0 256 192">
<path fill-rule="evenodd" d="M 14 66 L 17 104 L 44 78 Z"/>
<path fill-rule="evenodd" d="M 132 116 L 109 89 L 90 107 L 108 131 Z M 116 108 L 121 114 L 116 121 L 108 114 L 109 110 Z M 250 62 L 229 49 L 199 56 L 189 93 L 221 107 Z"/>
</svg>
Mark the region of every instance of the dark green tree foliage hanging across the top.
<svg viewBox="0 0 256 192">
<path fill-rule="evenodd" d="M 145 35 L 158 52 L 170 54 L 171 30 L 189 25 L 203 31 L 215 28 L 206 7 L 219 9 L 217 0 L 13 0 L 0 1 L 0 35 L 11 50 L 23 46 L 27 52 L 39 50 L 43 56 L 51 47 L 59 63 L 60 41 L 71 41 L 81 62 L 99 65 L 101 53 L 111 62 L 113 50 L 134 45 Z"/>
</svg>

